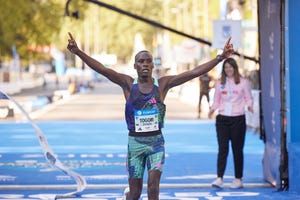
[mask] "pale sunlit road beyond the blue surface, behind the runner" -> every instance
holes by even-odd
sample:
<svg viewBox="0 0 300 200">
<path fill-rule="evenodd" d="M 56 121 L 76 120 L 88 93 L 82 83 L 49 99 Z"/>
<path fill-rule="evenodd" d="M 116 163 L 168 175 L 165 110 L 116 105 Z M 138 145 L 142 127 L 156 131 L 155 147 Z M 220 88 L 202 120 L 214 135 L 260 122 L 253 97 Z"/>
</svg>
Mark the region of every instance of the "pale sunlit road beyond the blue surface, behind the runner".
<svg viewBox="0 0 300 200">
<path fill-rule="evenodd" d="M 18 102 L 38 96 L 51 96 L 54 93 L 64 94 L 60 100 L 54 100 L 42 108 L 30 111 L 30 117 L 38 121 L 48 120 L 124 120 L 125 98 L 118 85 L 104 80 L 94 84 L 93 89 L 69 95 L 67 82 L 59 85 L 49 83 L 33 89 L 24 90 L 13 95 Z M 166 120 L 195 120 L 197 107 L 182 102 L 172 90 L 168 93 Z M 18 120 L 17 114 L 12 118 Z"/>
</svg>

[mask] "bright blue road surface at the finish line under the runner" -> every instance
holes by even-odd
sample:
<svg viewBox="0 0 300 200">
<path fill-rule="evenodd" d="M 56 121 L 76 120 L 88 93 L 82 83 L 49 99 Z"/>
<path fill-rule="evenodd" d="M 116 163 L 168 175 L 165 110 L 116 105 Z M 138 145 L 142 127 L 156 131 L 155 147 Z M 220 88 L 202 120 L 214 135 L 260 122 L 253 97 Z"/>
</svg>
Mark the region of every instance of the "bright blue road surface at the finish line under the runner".
<svg viewBox="0 0 300 200">
<path fill-rule="evenodd" d="M 43 121 L 37 123 L 62 163 L 81 174 L 86 189 L 74 199 L 121 199 L 127 186 L 127 132 L 124 121 Z M 75 181 L 45 160 L 29 123 L 0 122 L 0 199 L 53 199 L 76 189 Z M 300 199 L 300 194 L 277 192 L 263 179 L 264 144 L 248 131 L 245 144 L 244 188 L 230 189 L 231 151 L 223 189 L 216 178 L 217 141 L 213 121 L 167 120 L 163 130 L 166 163 L 160 199 Z M 145 187 L 146 187 L 145 174 Z M 146 188 L 141 199 L 147 199 Z M 73 199 L 73 198 L 71 198 Z"/>
</svg>

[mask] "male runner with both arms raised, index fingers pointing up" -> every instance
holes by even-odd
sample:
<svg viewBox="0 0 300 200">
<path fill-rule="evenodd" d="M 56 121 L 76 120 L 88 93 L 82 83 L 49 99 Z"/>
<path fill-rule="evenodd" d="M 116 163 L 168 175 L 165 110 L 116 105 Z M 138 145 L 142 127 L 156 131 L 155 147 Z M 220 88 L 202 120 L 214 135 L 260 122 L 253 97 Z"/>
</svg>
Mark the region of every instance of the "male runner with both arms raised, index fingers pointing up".
<svg viewBox="0 0 300 200">
<path fill-rule="evenodd" d="M 71 33 L 68 49 L 96 72 L 119 85 L 126 100 L 125 115 L 129 131 L 127 167 L 129 173 L 129 191 L 125 199 L 138 200 L 143 189 L 145 167 L 148 169 L 147 194 L 149 200 L 159 199 L 159 184 L 162 174 L 165 147 L 161 129 L 164 125 L 167 92 L 180 84 L 196 78 L 215 67 L 234 52 L 231 37 L 226 41 L 222 54 L 189 71 L 177 75 L 152 77 L 153 57 L 149 51 L 140 51 L 135 56 L 134 69 L 137 78 L 106 68 L 91 58 L 76 44 Z"/>
</svg>

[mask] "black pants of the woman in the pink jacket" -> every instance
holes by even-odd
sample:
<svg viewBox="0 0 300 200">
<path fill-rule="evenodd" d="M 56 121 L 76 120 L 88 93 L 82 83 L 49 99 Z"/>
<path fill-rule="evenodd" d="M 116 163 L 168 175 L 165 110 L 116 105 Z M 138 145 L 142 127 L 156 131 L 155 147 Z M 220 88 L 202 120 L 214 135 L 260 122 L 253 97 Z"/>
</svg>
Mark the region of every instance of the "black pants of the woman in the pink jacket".
<svg viewBox="0 0 300 200">
<path fill-rule="evenodd" d="M 234 175 L 235 178 L 242 178 L 244 168 L 243 149 L 246 134 L 245 115 L 235 117 L 218 115 L 216 118 L 216 129 L 219 145 L 217 161 L 218 177 L 224 176 L 229 151 L 229 141 L 231 141 L 231 149 L 234 161 Z"/>
</svg>

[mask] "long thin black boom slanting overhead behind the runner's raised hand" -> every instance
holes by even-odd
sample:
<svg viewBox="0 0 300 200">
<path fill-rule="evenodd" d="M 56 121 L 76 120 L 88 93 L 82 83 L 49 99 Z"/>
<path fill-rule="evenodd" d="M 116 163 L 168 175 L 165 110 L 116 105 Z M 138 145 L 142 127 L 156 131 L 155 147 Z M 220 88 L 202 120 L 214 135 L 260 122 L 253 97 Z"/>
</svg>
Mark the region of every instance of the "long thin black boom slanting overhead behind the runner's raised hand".
<svg viewBox="0 0 300 200">
<path fill-rule="evenodd" d="M 66 3 L 66 15 L 69 16 L 69 11 L 68 11 L 68 6 L 69 6 L 69 3 L 70 3 L 71 0 L 67 0 L 67 3 Z M 153 21 L 153 20 L 150 20 L 150 19 L 147 19 L 147 18 L 144 18 L 144 17 L 141 17 L 139 15 L 135 15 L 133 13 L 130 13 L 130 12 L 127 12 L 125 10 L 122 10 L 120 8 L 117 8 L 115 6 L 112 6 L 112 5 L 109 5 L 109 4 L 106 4 L 106 3 L 103 3 L 101 1 L 97 1 L 97 0 L 84 0 L 86 2 L 90 2 L 90 3 L 94 3 L 94 4 L 97 4 L 98 6 L 102 6 L 102 7 L 105 7 L 107 9 L 110 9 L 110 10 L 113 10 L 115 12 L 118 12 L 118 13 L 121 13 L 123 15 L 126 15 L 128 17 L 131 17 L 131 18 L 134 18 L 134 19 L 137 19 L 137 20 L 140 20 L 140 21 L 143 21 L 147 24 L 150 24 L 152 26 L 155 26 L 155 27 L 158 27 L 158 28 L 162 28 L 162 29 L 165 29 L 165 30 L 168 30 L 170 32 L 173 32 L 173 33 L 176 33 L 178 35 L 181 35 L 181 36 L 184 36 L 184 37 L 187 37 L 187 38 L 190 38 L 190 39 L 193 39 L 193 40 L 196 40 L 200 43 L 203 43 L 203 44 L 206 44 L 208 46 L 211 46 L 211 42 L 207 41 L 207 40 L 204 40 L 202 38 L 199 38 L 199 37 L 195 37 L 193 35 L 189 35 L 187 33 L 184 33 L 184 32 L 181 32 L 181 31 L 178 31 L 176 29 L 173 29 L 173 28 L 170 28 L 170 27 L 167 27 L 161 23 L 158 23 L 156 21 Z M 246 55 L 243 55 L 243 54 L 240 54 L 238 52 L 235 52 L 234 53 L 235 55 L 237 56 L 240 56 L 240 57 L 243 57 L 244 59 L 248 59 L 248 60 L 251 60 L 251 61 L 254 61 L 256 63 L 258 63 L 258 60 L 255 58 L 255 57 L 250 57 L 250 56 L 246 56 Z"/>
</svg>

